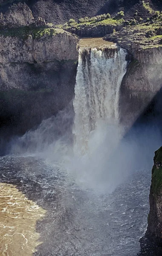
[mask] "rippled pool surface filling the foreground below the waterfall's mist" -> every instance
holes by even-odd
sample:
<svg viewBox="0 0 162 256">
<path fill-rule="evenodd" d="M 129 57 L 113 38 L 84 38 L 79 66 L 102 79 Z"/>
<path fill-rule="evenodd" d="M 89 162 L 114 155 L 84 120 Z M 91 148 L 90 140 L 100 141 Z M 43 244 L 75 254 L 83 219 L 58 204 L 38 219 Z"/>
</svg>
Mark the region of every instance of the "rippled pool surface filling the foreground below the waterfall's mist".
<svg viewBox="0 0 162 256">
<path fill-rule="evenodd" d="M 139 251 L 139 238 L 144 235 L 147 227 L 150 174 L 150 170 L 136 171 L 112 194 L 101 194 L 92 189 L 82 189 L 64 170 L 35 157 L 0 158 L 1 182 L 17 184 L 19 190 L 29 199 L 47 209 L 43 220 L 37 221 L 36 230 L 43 243 L 38 246 L 33 256 L 136 256 Z M 13 192 L 9 195 L 7 202 L 12 202 Z M 17 195 L 16 189 L 13 198 L 17 197 L 18 200 L 20 195 Z M 24 198 L 25 196 L 22 201 Z M 31 209 L 31 204 L 20 204 L 21 218 L 12 218 L 14 221 L 20 221 L 19 224 L 16 222 L 19 226 L 17 228 L 20 228 L 18 232 L 12 231 L 11 227 L 16 226 L 14 222 L 4 222 L 3 215 L 3 226 L 9 226 L 12 233 L 2 226 L 1 237 L 11 239 L 8 246 L 12 243 L 12 250 L 22 250 L 23 246 L 24 252 L 13 254 L 10 251 L 9 256 L 30 256 L 32 251 L 35 251 L 39 237 L 38 234 L 35 235 L 35 222 L 44 215 L 44 211 L 40 212 L 34 204 L 35 211 L 30 215 L 31 219 L 27 218 L 29 211 L 24 211 L 23 207 L 27 205 L 27 209 Z M 6 203 L 2 206 L 6 211 L 5 207 Z M 17 211 L 20 212 L 20 209 Z M 23 224 L 25 220 L 22 216 L 27 224 Z M 33 228 L 30 229 L 29 226 Z M 26 245 L 22 235 L 19 238 L 6 237 L 5 234 L 8 233 L 22 233 L 28 239 L 28 244 Z M 29 237 L 34 237 L 30 246 Z M 6 250 L 5 244 L 3 241 L 3 250 Z"/>
</svg>

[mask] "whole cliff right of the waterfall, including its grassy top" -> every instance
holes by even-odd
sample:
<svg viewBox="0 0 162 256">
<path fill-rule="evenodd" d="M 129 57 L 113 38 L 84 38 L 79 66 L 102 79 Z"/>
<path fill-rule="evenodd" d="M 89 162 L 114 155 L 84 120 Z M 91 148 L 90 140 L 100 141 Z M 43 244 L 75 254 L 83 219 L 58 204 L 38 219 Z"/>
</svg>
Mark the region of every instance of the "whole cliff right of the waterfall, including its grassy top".
<svg viewBox="0 0 162 256">
<path fill-rule="evenodd" d="M 127 26 L 105 37 L 127 49 L 128 68 L 121 86 L 120 118 L 129 129 L 162 87 L 159 24 Z M 151 35 L 150 35 L 151 33 Z M 148 37 L 149 34 L 149 37 Z"/>
</svg>

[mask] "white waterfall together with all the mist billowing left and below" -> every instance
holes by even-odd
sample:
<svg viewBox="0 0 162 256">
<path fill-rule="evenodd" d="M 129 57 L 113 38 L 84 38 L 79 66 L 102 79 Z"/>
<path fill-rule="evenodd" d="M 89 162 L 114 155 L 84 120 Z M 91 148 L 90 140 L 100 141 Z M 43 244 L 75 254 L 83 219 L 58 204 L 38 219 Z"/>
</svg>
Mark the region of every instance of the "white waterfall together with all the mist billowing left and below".
<svg viewBox="0 0 162 256">
<path fill-rule="evenodd" d="M 41 152 L 44 158 L 61 163 L 80 186 L 113 191 L 130 173 L 139 151 L 137 137 L 121 140 L 119 92 L 125 58 L 124 49 L 80 49 L 74 118 L 69 105 L 19 138 L 14 153 Z M 139 136 L 143 141 L 144 136 Z"/>
</svg>

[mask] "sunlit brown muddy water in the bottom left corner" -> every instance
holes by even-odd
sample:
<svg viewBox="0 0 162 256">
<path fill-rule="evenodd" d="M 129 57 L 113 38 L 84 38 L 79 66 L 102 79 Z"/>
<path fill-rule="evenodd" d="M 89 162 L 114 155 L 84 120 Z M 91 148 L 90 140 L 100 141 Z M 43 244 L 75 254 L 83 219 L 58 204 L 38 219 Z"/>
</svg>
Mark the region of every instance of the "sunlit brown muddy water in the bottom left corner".
<svg viewBox="0 0 162 256">
<path fill-rule="evenodd" d="M 45 213 L 16 186 L 0 183 L 0 255 L 32 256 L 41 244 L 36 222 Z"/>
</svg>

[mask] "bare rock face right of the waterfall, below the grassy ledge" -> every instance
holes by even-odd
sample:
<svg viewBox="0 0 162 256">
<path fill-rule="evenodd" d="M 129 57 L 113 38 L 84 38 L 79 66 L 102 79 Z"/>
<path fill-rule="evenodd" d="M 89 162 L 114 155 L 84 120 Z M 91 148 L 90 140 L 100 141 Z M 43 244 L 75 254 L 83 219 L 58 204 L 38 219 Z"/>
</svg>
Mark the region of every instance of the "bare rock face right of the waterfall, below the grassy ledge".
<svg viewBox="0 0 162 256">
<path fill-rule="evenodd" d="M 120 120 L 129 129 L 162 87 L 162 64 L 130 61 L 120 93 Z"/>
</svg>

